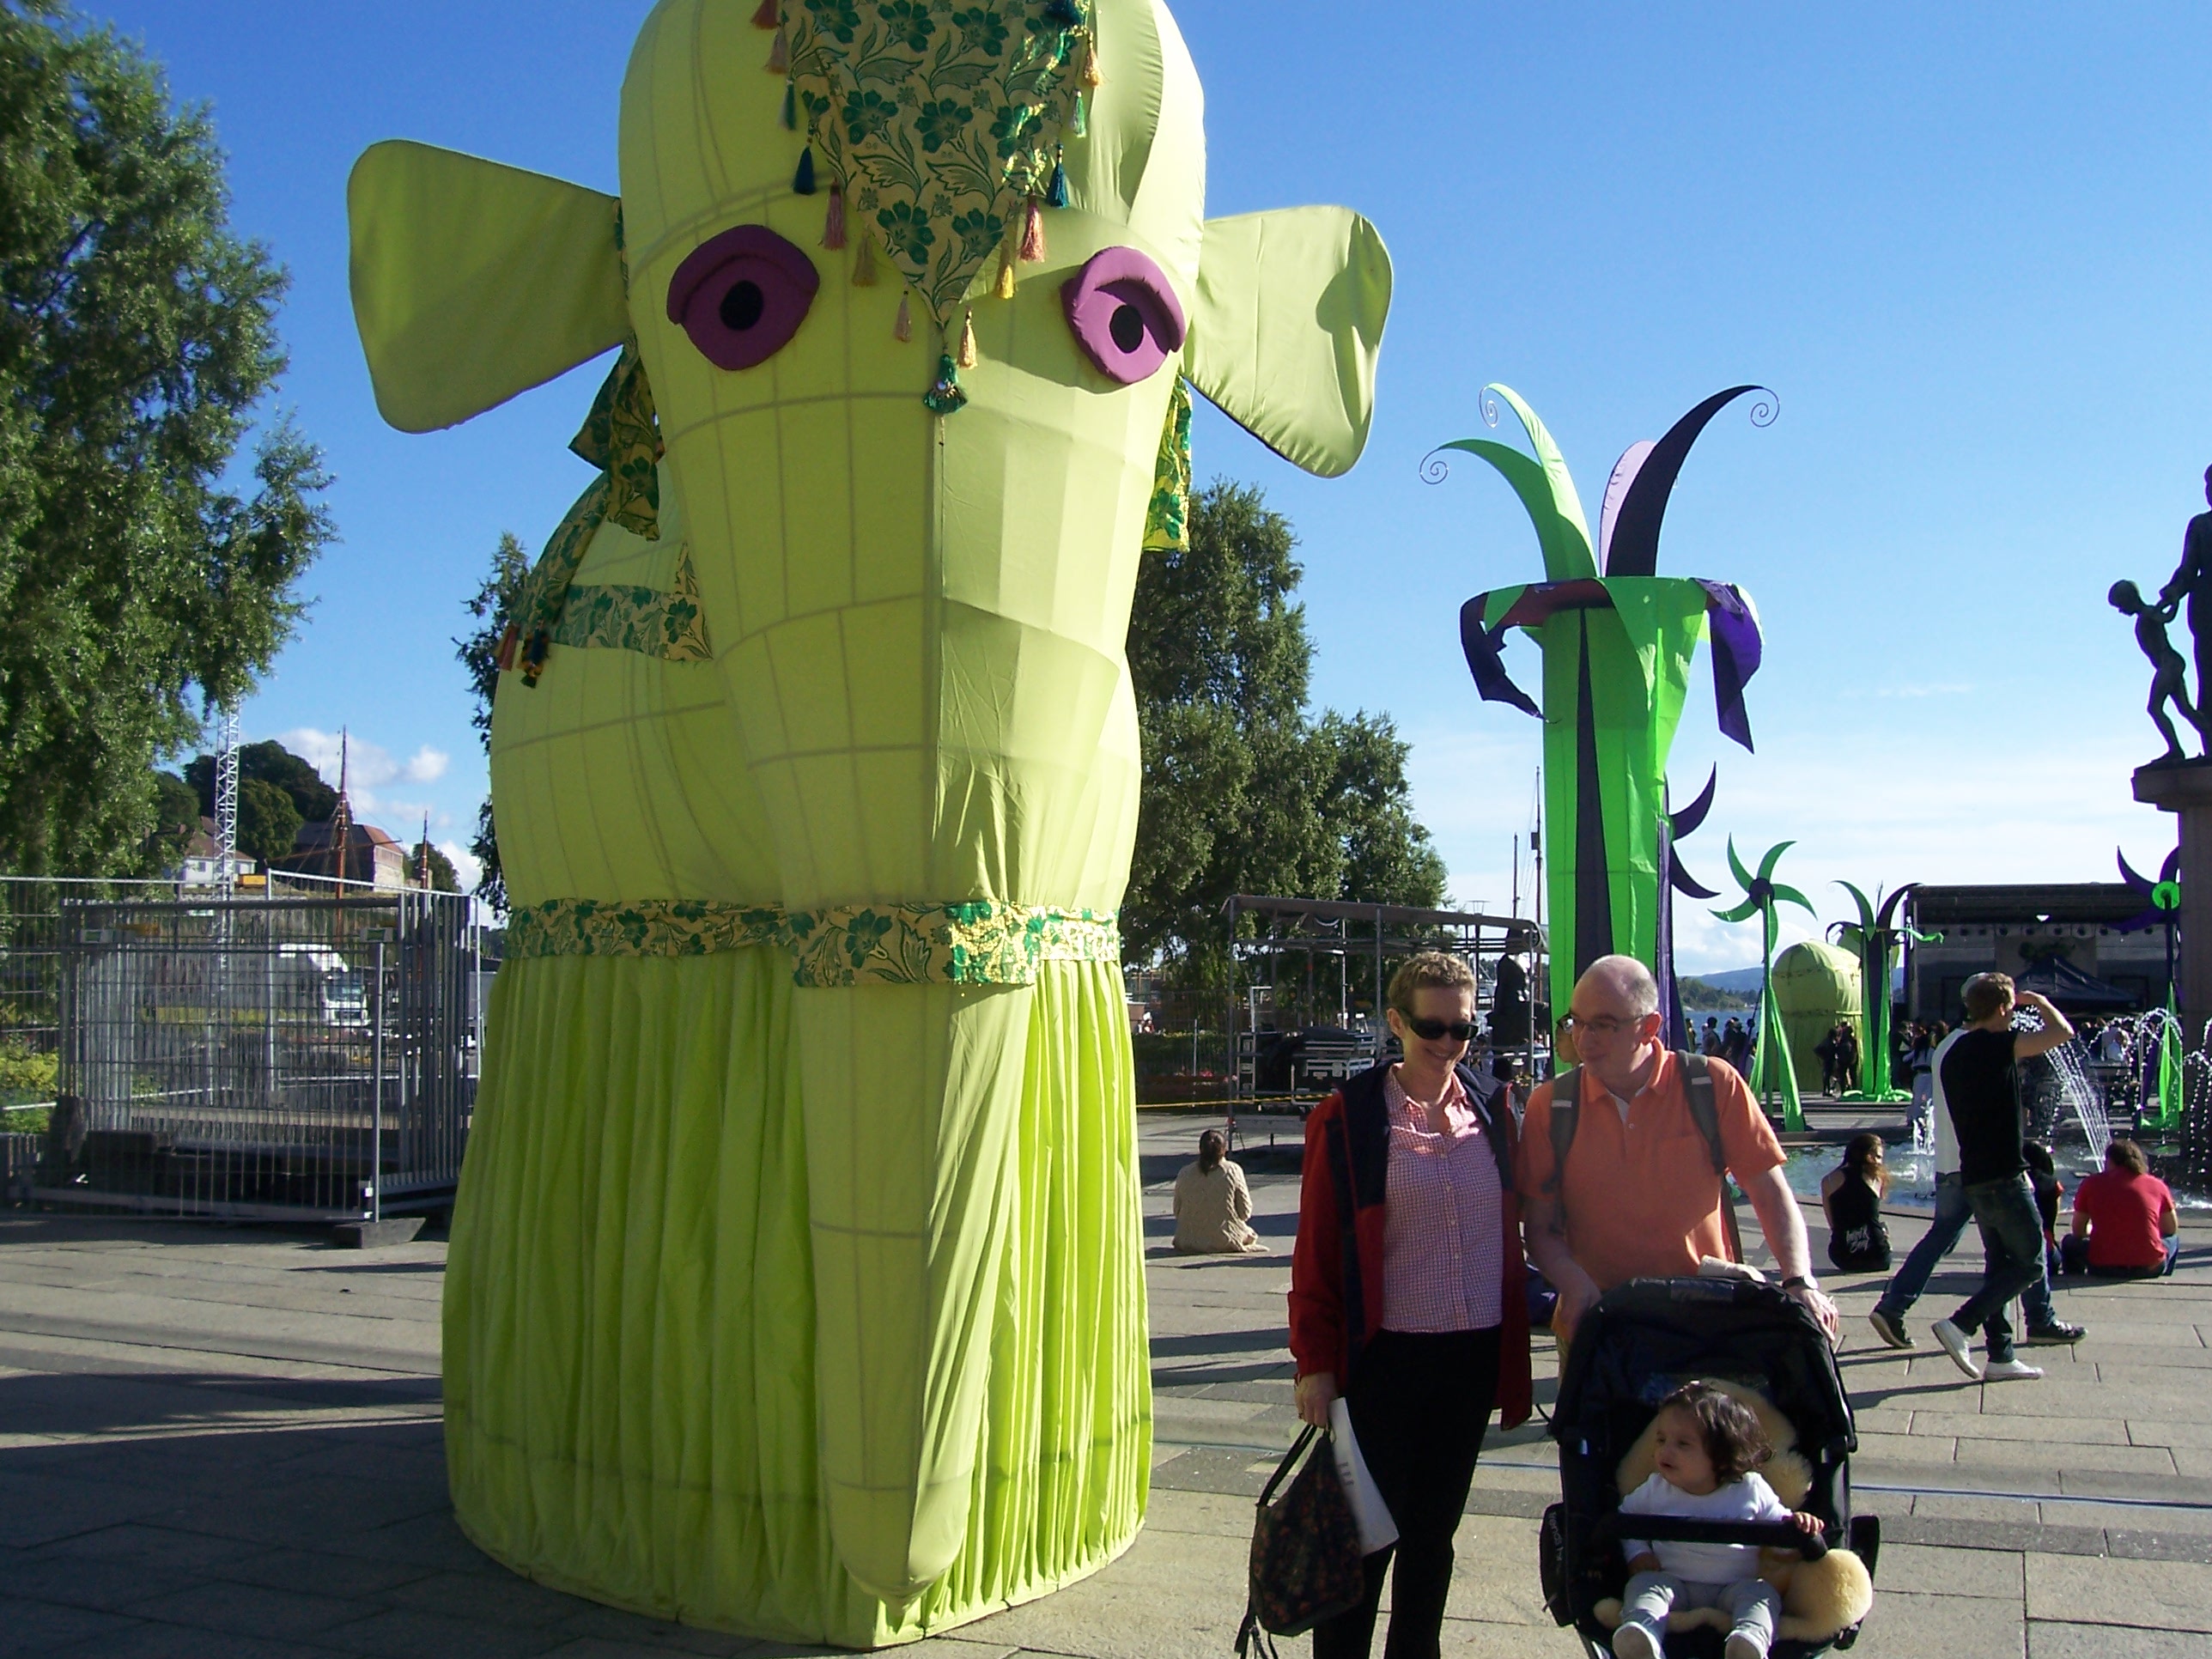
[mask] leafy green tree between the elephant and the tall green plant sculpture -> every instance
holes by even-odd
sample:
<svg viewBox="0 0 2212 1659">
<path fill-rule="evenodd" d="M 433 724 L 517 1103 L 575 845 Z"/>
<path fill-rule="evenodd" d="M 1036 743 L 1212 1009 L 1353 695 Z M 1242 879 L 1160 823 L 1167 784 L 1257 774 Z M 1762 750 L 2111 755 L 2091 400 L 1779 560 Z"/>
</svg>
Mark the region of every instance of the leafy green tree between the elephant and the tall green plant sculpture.
<svg viewBox="0 0 2212 1659">
<path fill-rule="evenodd" d="M 1444 898 L 1389 717 L 1307 712 L 1294 549 L 1256 489 L 1217 480 L 1190 504 L 1190 551 L 1146 553 L 1137 577 L 1144 796 L 1121 940 L 1186 982 L 1219 978 L 1230 894 Z"/>
</svg>

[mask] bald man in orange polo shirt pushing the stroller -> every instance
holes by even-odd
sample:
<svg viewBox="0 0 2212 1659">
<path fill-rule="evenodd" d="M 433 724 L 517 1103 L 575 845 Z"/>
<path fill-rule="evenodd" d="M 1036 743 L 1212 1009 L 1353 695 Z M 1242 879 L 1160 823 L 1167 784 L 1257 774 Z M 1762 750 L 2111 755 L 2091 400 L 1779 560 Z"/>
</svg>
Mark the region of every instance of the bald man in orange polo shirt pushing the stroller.
<svg viewBox="0 0 2212 1659">
<path fill-rule="evenodd" d="M 1553 1332 L 1568 1340 L 1582 1314 L 1626 1279 L 1694 1274 L 1725 1256 L 1721 1177 L 1690 1115 L 1681 1062 L 1659 1040 L 1659 987 L 1632 956 L 1601 956 L 1575 982 L 1566 1024 L 1579 1066 L 1579 1121 L 1566 1170 L 1551 1139 L 1553 1084 L 1528 1099 L 1520 1141 L 1520 1201 L 1528 1256 L 1559 1292 Z M 1805 1217 L 1783 1179 L 1783 1148 L 1725 1060 L 1708 1060 L 1728 1172 L 1759 1214 L 1783 1290 L 1836 1340 L 1836 1303 L 1812 1274 Z"/>
</svg>

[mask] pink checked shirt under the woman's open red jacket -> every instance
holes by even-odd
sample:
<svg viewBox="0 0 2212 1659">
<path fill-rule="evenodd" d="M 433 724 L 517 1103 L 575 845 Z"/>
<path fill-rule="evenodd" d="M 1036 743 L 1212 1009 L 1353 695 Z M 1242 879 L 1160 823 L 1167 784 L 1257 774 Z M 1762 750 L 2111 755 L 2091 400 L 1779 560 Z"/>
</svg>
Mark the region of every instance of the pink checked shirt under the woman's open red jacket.
<svg viewBox="0 0 2212 1659">
<path fill-rule="evenodd" d="M 1498 1225 L 1498 1157 L 1482 1119 L 1451 1077 L 1444 1133 L 1407 1099 L 1398 1073 L 1383 1079 L 1389 1108 L 1389 1183 L 1383 1208 L 1383 1327 L 1486 1332 L 1502 1321 L 1504 1234 Z"/>
</svg>

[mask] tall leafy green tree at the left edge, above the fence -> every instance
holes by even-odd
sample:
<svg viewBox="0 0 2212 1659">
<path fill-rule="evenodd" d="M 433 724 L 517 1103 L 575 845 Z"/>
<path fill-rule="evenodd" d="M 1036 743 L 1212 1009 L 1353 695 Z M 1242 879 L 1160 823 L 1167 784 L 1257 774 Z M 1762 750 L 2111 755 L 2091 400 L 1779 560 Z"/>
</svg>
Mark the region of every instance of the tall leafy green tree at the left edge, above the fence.
<svg viewBox="0 0 2212 1659">
<path fill-rule="evenodd" d="M 146 865 L 153 761 L 290 637 L 332 538 L 276 385 L 283 272 L 204 108 L 60 0 L 0 0 L 0 865 Z M 197 692 L 197 697 L 195 697 Z M 197 701 L 197 710 L 195 710 Z"/>
</svg>

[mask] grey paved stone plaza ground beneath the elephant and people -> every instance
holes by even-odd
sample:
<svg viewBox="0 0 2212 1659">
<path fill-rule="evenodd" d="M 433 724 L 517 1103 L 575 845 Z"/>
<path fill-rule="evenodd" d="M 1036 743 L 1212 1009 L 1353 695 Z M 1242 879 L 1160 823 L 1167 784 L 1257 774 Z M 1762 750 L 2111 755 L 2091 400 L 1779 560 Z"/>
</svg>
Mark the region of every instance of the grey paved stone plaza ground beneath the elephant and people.
<svg viewBox="0 0 2212 1659">
<path fill-rule="evenodd" d="M 1146 1531 L 1073 1590 L 907 1652 L 1230 1652 L 1250 1495 L 1292 1433 L 1296 1177 L 1283 1148 L 1250 1157 L 1276 1256 L 1166 1254 L 1168 1183 L 1203 1121 L 1144 1121 L 1159 1416 Z M 1298 1135 L 1294 1119 L 1245 1128 L 1263 1148 L 1270 1126 L 1285 1148 Z M 1918 1223 L 1891 1230 L 1902 1250 Z M 1978 1252 L 1916 1310 L 1913 1356 L 1867 1329 L 1878 1281 L 1829 1281 L 1858 1405 L 1851 1471 L 1887 1537 L 1858 1655 L 2212 1655 L 2208 1245 L 2212 1230 L 2185 1221 L 2174 1281 L 2064 1290 L 2090 1336 L 2028 1349 L 2042 1383 L 1966 1383 L 1924 1334 Z M 0 1217 L 0 1655 L 814 1652 L 542 1590 L 460 1537 L 438 1429 L 442 1270 L 436 1241 L 349 1252 L 316 1234 Z M 1484 1453 L 1449 1655 L 1575 1652 L 1537 1604 L 1548 1451 L 1531 1425 Z"/>
</svg>

